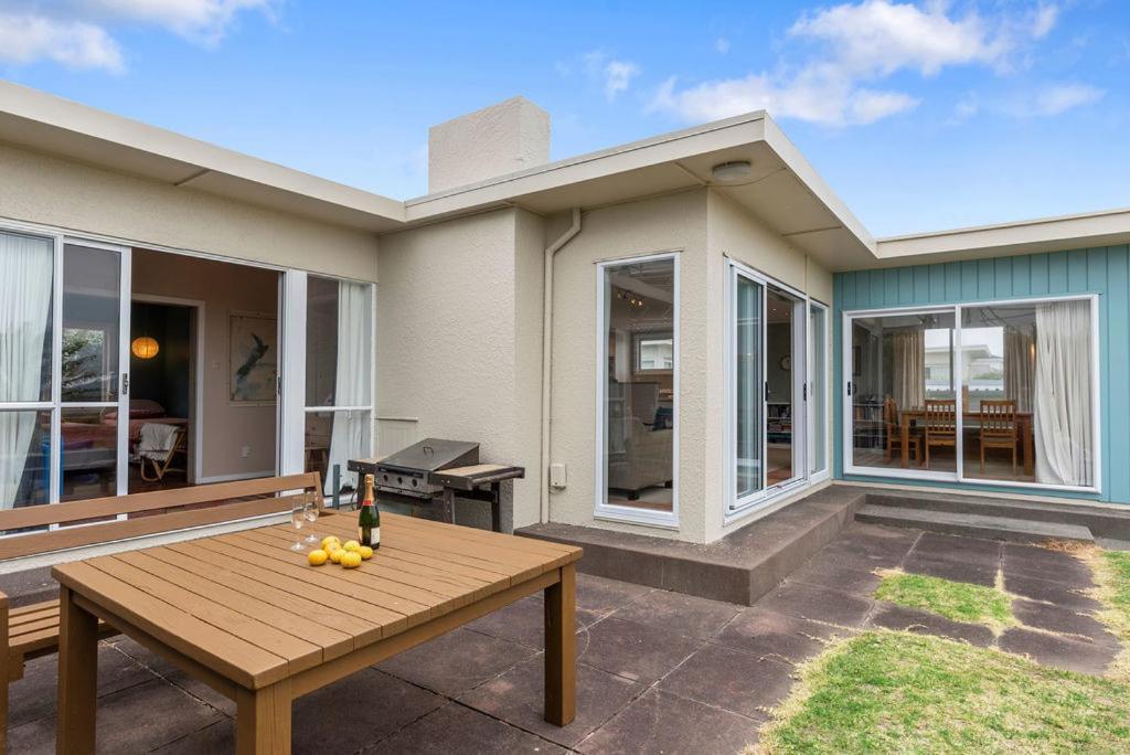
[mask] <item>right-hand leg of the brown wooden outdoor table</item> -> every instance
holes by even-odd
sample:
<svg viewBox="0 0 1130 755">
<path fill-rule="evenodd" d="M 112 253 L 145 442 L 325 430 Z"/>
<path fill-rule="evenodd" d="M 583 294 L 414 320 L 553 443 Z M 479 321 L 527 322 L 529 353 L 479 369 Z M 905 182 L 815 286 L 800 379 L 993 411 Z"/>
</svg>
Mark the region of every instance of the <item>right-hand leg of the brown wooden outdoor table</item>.
<svg viewBox="0 0 1130 755">
<path fill-rule="evenodd" d="M 576 717 L 576 566 L 558 570 L 546 588 L 546 721 L 568 726 Z"/>
</svg>

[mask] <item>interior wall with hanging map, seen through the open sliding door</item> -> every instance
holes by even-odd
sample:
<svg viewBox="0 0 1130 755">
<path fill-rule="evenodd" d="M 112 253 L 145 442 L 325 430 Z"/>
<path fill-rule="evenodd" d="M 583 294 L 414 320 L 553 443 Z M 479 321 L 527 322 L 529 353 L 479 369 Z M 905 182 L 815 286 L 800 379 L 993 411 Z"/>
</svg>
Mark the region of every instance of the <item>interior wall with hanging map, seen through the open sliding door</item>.
<svg viewBox="0 0 1130 755">
<path fill-rule="evenodd" d="M 205 345 L 203 414 L 198 427 L 193 428 L 193 432 L 203 433 L 202 477 L 198 481 L 273 475 L 276 402 L 231 401 L 229 341 L 233 313 L 278 316 L 278 274 L 134 249 L 132 284 L 134 295 L 205 303 L 205 322 L 200 331 Z"/>
</svg>

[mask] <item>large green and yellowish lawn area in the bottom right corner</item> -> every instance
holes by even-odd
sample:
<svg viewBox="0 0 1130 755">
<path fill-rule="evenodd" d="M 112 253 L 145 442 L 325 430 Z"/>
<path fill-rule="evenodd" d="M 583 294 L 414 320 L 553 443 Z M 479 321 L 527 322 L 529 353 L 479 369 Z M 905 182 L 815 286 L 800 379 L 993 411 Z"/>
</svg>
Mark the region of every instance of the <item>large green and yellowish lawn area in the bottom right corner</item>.
<svg viewBox="0 0 1130 755">
<path fill-rule="evenodd" d="M 758 750 L 1130 752 L 1130 686 L 905 632 L 868 632 L 801 669 Z"/>
</svg>

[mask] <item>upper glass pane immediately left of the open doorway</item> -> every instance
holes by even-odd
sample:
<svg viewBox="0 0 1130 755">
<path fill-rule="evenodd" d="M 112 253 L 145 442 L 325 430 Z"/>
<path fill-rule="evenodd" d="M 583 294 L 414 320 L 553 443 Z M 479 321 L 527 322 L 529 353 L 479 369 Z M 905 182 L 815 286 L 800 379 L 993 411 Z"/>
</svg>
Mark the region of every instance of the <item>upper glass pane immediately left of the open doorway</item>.
<svg viewBox="0 0 1130 755">
<path fill-rule="evenodd" d="M 121 254 L 63 248 L 63 401 L 118 400 Z"/>
</svg>

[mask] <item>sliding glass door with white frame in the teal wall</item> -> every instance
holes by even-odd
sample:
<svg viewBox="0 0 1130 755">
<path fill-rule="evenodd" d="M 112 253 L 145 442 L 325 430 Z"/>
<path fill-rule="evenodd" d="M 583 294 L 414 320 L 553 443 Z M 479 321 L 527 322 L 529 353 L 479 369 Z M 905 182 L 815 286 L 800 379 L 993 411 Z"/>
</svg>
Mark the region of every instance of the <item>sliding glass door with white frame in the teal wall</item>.
<svg viewBox="0 0 1130 755">
<path fill-rule="evenodd" d="M 845 471 L 1096 489 L 1095 307 L 1084 296 L 845 314 Z"/>
</svg>

